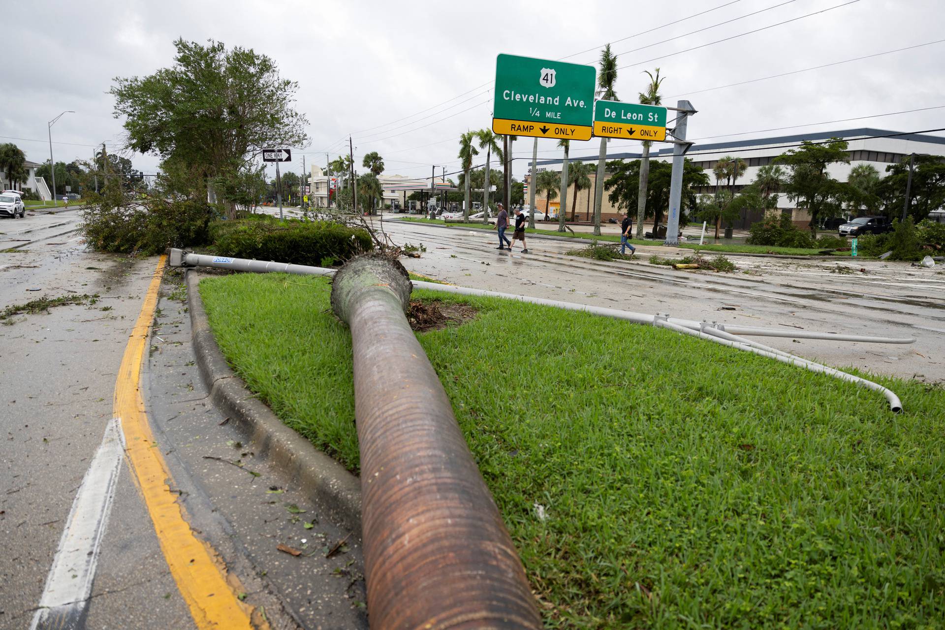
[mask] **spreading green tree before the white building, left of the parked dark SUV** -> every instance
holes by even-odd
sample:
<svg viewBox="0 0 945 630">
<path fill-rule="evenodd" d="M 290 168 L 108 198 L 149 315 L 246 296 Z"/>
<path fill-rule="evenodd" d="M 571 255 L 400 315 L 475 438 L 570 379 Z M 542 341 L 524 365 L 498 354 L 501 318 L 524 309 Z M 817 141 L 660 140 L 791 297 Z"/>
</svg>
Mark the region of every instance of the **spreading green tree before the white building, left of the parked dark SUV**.
<svg viewBox="0 0 945 630">
<path fill-rule="evenodd" d="M 775 163 L 787 166 L 789 175 L 784 191 L 789 199 L 810 213 L 810 228 L 814 236 L 817 219 L 836 216 L 848 195 L 848 185 L 833 179 L 827 172 L 830 164 L 850 162 L 847 146 L 847 141 L 840 138 L 831 138 L 825 144 L 805 140 L 798 149 L 789 149 L 774 159 Z"/>
</svg>

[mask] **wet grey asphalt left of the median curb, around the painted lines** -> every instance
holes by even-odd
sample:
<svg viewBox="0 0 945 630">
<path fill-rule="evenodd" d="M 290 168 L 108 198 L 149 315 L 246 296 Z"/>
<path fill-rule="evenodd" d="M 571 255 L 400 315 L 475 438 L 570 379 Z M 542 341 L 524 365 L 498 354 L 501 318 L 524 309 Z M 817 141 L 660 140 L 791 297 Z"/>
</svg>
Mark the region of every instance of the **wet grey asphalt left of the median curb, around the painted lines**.
<svg viewBox="0 0 945 630">
<path fill-rule="evenodd" d="M 75 211 L 0 221 L 0 309 L 97 295 L 0 326 L 0 629 L 28 627 L 39 604 L 77 487 L 112 418 L 116 372 L 157 264 L 87 250 L 78 221 Z M 322 550 L 348 532 L 321 518 L 318 504 L 251 447 L 236 448 L 243 438 L 210 404 L 194 363 L 190 319 L 174 293 L 181 282 L 165 276 L 142 391 L 191 527 L 271 627 L 367 627 L 356 533 L 345 553 L 326 559 Z M 206 456 L 239 459 L 259 476 Z M 293 503 L 304 512 L 289 513 Z M 280 543 L 304 554 L 281 553 Z M 124 463 L 84 627 L 197 627 Z"/>
</svg>

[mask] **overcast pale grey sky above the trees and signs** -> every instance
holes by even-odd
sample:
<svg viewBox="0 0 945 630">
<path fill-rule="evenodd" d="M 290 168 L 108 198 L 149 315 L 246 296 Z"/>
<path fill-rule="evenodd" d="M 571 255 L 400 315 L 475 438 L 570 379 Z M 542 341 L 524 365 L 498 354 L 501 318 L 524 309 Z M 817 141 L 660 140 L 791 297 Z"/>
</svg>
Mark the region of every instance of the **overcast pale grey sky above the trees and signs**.
<svg viewBox="0 0 945 630">
<path fill-rule="evenodd" d="M 88 159 L 92 145 L 103 141 L 121 145 L 122 121 L 112 117 L 108 94 L 112 78 L 170 65 L 178 37 L 251 47 L 299 82 L 297 107 L 310 122 L 311 142 L 294 151 L 286 170 L 296 172 L 301 153 L 310 164 L 324 163 L 326 151 L 333 159 L 347 152 L 348 134 L 356 161 L 376 150 L 387 174 L 428 177 L 431 164 L 456 170 L 459 134 L 491 125 L 498 53 L 574 55 L 568 60 L 595 64 L 610 42 L 621 66 L 618 97 L 636 100 L 643 71 L 660 67 L 664 104 L 689 98 L 698 110 L 689 123 L 695 139 L 945 106 L 945 43 L 693 94 L 945 39 L 942 0 L 853 0 L 838 7 L 848 2 L 18 2 L 4 9 L 0 142 L 43 162 L 49 158 L 43 126 L 60 111 L 75 110 L 52 129 L 57 162 Z M 801 17 L 822 9 L 830 10 Z M 800 19 L 714 43 L 794 18 Z M 705 30 L 689 34 L 696 29 Z M 663 42 L 670 38 L 677 39 Z M 702 44 L 710 45 L 674 55 Z M 945 127 L 943 120 L 945 109 L 936 109 L 737 138 L 856 127 L 910 131 Z M 515 157 L 530 159 L 531 144 L 516 143 Z M 596 153 L 598 144 L 575 143 L 572 155 Z M 632 151 L 639 143 L 610 146 Z M 540 158 L 560 155 L 552 140 L 540 141 L 539 150 Z M 146 173 L 159 162 L 129 157 Z M 526 162 L 516 161 L 517 176 Z"/>
</svg>

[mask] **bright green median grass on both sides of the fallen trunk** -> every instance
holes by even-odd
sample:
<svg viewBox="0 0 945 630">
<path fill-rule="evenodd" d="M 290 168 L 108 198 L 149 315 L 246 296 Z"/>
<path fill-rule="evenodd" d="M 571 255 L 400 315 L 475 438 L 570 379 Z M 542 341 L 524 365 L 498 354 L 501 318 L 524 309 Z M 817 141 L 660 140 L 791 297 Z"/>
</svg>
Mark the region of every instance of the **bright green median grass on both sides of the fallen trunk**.
<svg viewBox="0 0 945 630">
<path fill-rule="evenodd" d="M 200 283 L 236 371 L 356 471 L 351 342 L 329 291 Z M 942 388 L 876 377 L 902 397 L 893 416 L 864 388 L 674 332 L 442 299 L 478 316 L 418 336 L 547 627 L 941 627 Z"/>
</svg>

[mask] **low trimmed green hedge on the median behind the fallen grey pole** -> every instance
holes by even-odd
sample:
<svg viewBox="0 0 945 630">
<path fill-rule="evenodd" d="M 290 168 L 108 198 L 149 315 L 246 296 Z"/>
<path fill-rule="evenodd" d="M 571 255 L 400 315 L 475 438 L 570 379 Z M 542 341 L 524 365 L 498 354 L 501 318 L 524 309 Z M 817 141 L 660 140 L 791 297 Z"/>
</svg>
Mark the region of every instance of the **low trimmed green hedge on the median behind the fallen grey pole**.
<svg viewBox="0 0 945 630">
<path fill-rule="evenodd" d="M 340 263 L 371 250 L 367 230 L 331 221 L 239 219 L 211 226 L 217 254 L 314 266 Z"/>
</svg>

